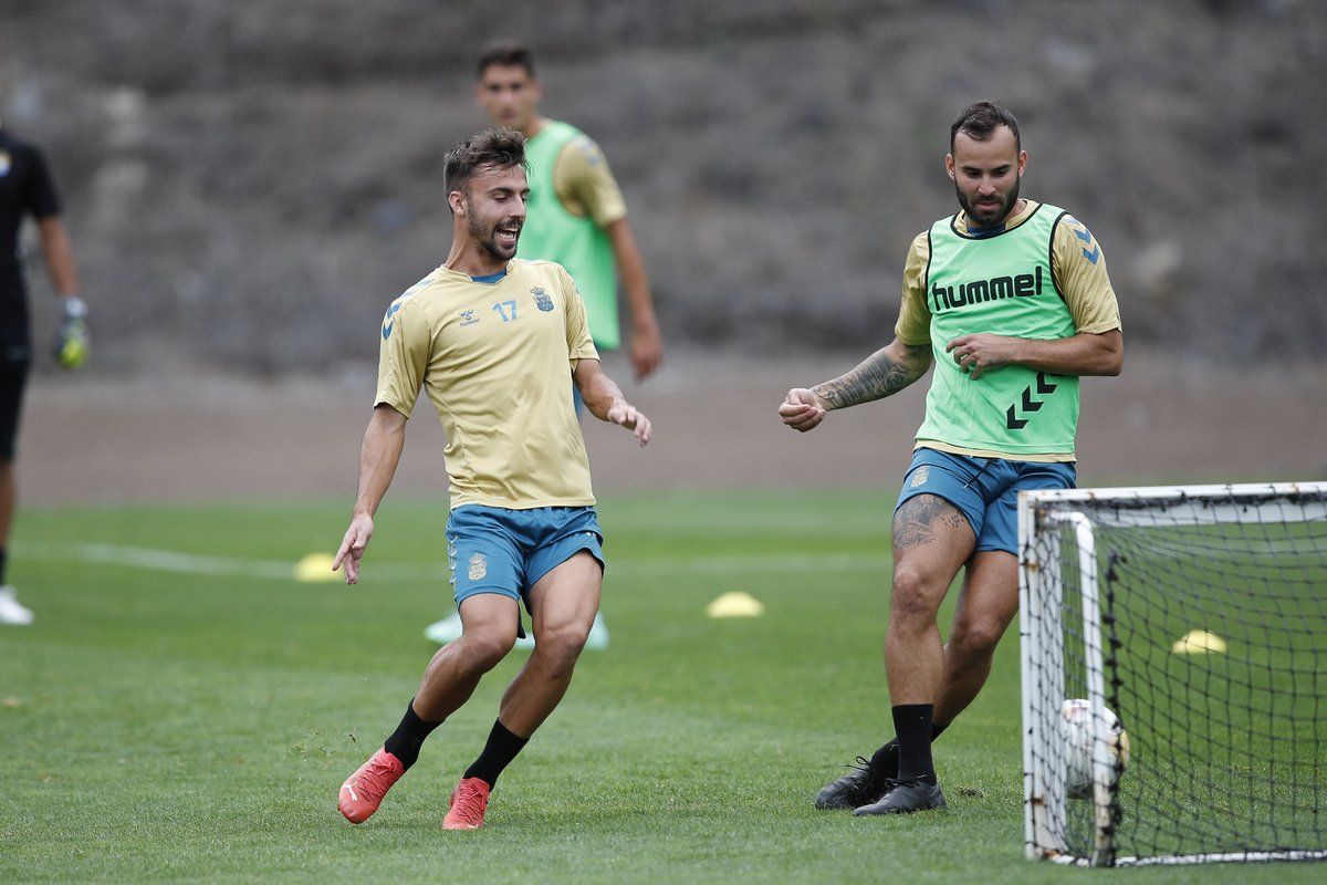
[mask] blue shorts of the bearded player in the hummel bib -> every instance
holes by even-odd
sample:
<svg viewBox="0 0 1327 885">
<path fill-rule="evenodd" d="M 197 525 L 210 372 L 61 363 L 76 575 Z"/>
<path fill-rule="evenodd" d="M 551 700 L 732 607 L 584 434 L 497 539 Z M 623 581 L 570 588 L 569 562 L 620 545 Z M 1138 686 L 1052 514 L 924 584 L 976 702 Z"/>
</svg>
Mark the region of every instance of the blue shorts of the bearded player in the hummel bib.
<svg viewBox="0 0 1327 885">
<path fill-rule="evenodd" d="M 1072 462 L 1044 464 L 1003 458 L 969 458 L 918 448 L 904 474 L 898 504 L 917 495 L 936 495 L 957 507 L 977 535 L 978 551 L 1018 555 L 1018 492 L 1032 488 L 1075 488 Z"/>
</svg>

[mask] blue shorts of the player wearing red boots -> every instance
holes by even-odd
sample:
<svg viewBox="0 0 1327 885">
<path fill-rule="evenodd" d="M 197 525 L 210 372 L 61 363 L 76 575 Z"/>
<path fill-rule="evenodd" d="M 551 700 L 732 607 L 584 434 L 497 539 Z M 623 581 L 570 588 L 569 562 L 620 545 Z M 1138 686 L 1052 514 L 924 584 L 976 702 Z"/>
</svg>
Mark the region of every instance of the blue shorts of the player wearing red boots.
<svg viewBox="0 0 1327 885">
<path fill-rule="evenodd" d="M 593 507 L 507 510 L 463 504 L 447 516 L 447 565 L 456 608 L 475 593 L 524 600 L 539 579 L 589 551 L 604 567 L 604 532 Z"/>
</svg>

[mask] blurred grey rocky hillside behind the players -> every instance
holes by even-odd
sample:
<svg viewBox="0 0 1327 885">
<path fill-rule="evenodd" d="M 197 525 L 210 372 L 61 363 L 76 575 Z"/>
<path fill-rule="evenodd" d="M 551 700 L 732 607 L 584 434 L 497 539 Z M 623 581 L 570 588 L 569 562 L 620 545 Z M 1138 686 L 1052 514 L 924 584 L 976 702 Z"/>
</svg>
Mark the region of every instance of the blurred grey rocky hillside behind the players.
<svg viewBox="0 0 1327 885">
<path fill-rule="evenodd" d="M 909 240 L 954 210 L 949 123 L 987 97 L 1023 123 L 1023 192 L 1103 243 L 1131 342 L 1327 338 L 1315 0 L 0 0 L 0 117 L 57 172 L 100 364 L 372 360 L 446 255 L 442 157 L 486 123 L 495 36 L 604 146 L 675 345 L 885 341 Z"/>
</svg>

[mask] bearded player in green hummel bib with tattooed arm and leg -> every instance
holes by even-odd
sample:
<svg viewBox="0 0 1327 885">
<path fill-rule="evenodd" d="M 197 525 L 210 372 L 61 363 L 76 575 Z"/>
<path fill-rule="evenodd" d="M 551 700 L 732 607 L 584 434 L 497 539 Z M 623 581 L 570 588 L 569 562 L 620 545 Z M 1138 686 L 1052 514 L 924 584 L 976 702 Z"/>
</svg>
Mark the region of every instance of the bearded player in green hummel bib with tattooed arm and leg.
<svg viewBox="0 0 1327 885">
<path fill-rule="evenodd" d="M 936 365 L 894 511 L 885 666 L 897 738 L 816 796 L 856 815 L 943 807 L 930 744 L 981 691 L 1018 610 L 1018 492 L 1074 487 L 1078 379 L 1124 361 L 1101 247 L 1066 211 L 1019 196 L 1027 153 L 1014 115 L 971 105 L 949 145 L 961 211 L 913 240 L 894 341 L 779 406 L 807 431 Z M 961 568 L 941 645 L 936 614 Z"/>
</svg>

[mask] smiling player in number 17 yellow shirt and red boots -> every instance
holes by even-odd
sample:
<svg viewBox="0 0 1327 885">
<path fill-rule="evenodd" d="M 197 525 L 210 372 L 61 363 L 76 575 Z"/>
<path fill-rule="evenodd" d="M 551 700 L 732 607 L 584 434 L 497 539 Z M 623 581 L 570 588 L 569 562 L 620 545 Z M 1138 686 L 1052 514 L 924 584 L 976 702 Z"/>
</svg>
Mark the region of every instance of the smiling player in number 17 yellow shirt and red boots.
<svg viewBox="0 0 1327 885">
<path fill-rule="evenodd" d="M 483 825 L 498 775 L 561 701 L 598 610 L 602 532 L 572 385 L 596 418 L 626 427 L 642 446 L 652 434 L 649 419 L 600 369 L 567 271 L 514 257 L 529 194 L 524 147 L 520 133 L 500 130 L 447 155 L 451 252 L 382 320 L 360 491 L 333 568 L 345 568 L 348 584 L 360 580 L 373 515 L 425 390 L 447 437 L 447 548 L 464 629 L 434 655 L 382 748 L 342 784 L 338 807 L 356 824 L 378 809 L 425 738 L 512 649 L 524 602 L 537 646 L 443 819 L 445 829 Z"/>
</svg>

